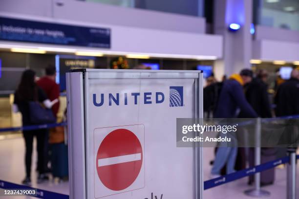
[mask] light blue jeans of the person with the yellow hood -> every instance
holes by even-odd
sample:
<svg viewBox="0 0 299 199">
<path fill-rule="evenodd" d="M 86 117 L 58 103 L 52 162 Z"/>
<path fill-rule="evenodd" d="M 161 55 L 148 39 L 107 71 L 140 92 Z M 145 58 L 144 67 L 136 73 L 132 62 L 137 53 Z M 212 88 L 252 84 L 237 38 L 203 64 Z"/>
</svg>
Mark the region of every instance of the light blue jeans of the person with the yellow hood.
<svg viewBox="0 0 299 199">
<path fill-rule="evenodd" d="M 231 174 L 235 172 L 237 141 L 234 137 L 230 135 L 227 136 L 231 138 L 231 143 L 234 144 L 234 147 L 227 147 L 227 142 L 220 142 L 211 172 L 213 175 L 220 175 L 221 169 L 224 167 L 225 164 L 226 174 Z M 220 135 L 220 137 L 222 136 Z"/>
</svg>

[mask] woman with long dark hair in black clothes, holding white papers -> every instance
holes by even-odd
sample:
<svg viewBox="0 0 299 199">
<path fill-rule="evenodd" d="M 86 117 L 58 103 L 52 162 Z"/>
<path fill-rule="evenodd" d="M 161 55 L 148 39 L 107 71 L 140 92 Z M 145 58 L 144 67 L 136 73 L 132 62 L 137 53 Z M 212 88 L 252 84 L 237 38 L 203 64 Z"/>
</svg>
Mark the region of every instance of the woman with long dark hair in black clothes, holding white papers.
<svg viewBox="0 0 299 199">
<path fill-rule="evenodd" d="M 26 70 L 21 76 L 21 82 L 18 89 L 15 92 L 14 100 L 14 111 L 18 110 L 22 114 L 22 124 L 23 126 L 33 125 L 30 121 L 30 101 L 42 102 L 46 108 L 51 108 L 55 101 L 50 101 L 47 99 L 43 90 L 37 86 L 35 83 L 35 72 L 33 70 Z M 17 106 L 16 106 L 17 105 Z M 25 165 L 26 165 L 26 177 L 22 181 L 23 184 L 31 184 L 31 156 L 33 148 L 33 137 L 37 139 L 37 151 L 38 151 L 38 183 L 43 182 L 48 179 L 44 174 L 45 165 L 43 161 L 44 154 L 44 143 L 46 138 L 47 129 L 37 129 L 37 130 L 24 130 L 23 137 L 25 140 L 26 152 L 25 152 Z"/>
</svg>

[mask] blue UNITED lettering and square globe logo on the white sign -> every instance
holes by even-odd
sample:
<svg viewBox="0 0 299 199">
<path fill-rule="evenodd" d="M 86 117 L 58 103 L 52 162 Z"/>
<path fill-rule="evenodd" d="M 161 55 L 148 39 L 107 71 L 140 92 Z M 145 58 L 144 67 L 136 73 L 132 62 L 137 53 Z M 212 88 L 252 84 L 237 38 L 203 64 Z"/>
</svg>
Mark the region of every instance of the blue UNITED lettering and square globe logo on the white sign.
<svg viewBox="0 0 299 199">
<path fill-rule="evenodd" d="M 178 107 L 184 106 L 184 87 L 183 86 L 170 86 L 169 87 L 169 106 Z M 108 103 L 108 106 L 119 106 L 139 103 L 143 104 L 159 104 L 165 101 L 163 92 L 144 92 L 144 93 L 108 93 L 107 94 L 92 94 L 94 106 L 103 106 Z M 140 98 L 143 98 L 140 100 Z M 107 99 L 107 101 L 106 101 Z"/>
</svg>

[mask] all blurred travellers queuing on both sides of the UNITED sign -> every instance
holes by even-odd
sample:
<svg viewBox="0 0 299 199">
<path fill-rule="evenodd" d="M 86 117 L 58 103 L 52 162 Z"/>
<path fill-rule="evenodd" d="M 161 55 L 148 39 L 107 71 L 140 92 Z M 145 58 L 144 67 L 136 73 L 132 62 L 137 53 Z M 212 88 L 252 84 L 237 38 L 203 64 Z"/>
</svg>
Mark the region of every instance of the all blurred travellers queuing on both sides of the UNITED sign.
<svg viewBox="0 0 299 199">
<path fill-rule="evenodd" d="M 15 92 L 14 111 L 21 112 L 23 126 L 66 121 L 66 110 L 62 119 L 57 118 L 59 110 L 59 85 L 55 82 L 56 70 L 49 65 L 45 76 L 37 79 L 33 70 L 23 72 Z M 212 75 L 204 88 L 204 113 L 208 118 L 272 118 L 299 114 L 299 68 L 294 69 L 289 80 L 276 80 L 275 95 L 271 99 L 267 85 L 268 73 L 259 70 L 256 74 L 243 69 L 229 78 L 223 76 L 220 82 Z M 33 139 L 37 141 L 38 183 L 49 180 L 49 174 L 58 180 L 66 180 L 67 136 L 64 126 L 50 129 L 23 130 L 25 142 L 26 176 L 22 183 L 31 184 L 31 162 Z M 262 158 L 274 159 L 277 149 L 262 148 Z M 217 147 L 211 177 L 230 174 L 246 167 L 244 149 Z M 249 165 L 254 165 L 254 150 L 249 149 Z M 244 163 L 245 162 L 245 163 Z M 263 175 L 264 174 L 264 175 Z M 274 182 L 274 171 L 261 174 L 261 183 Z M 250 178 L 249 183 L 254 180 Z"/>
</svg>

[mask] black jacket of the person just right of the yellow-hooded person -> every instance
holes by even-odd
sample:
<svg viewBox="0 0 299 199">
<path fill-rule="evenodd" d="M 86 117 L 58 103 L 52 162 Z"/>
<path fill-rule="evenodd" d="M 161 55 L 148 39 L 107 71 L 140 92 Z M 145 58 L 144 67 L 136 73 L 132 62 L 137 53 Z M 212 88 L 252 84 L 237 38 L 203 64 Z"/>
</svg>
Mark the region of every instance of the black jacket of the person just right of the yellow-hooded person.
<svg viewBox="0 0 299 199">
<path fill-rule="evenodd" d="M 271 118 L 271 105 L 268 96 L 268 86 L 259 78 L 245 85 L 245 97 L 260 118 Z M 246 118 L 241 111 L 239 118 Z"/>
</svg>

